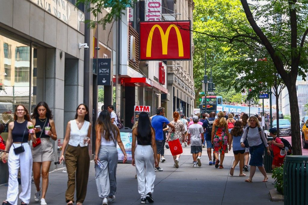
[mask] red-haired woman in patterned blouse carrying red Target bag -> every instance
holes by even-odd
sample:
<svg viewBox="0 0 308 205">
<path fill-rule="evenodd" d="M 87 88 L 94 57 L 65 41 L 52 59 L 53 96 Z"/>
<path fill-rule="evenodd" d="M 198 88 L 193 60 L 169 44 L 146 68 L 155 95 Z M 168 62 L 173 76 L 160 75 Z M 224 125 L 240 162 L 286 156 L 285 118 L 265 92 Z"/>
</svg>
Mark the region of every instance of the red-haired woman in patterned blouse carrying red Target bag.
<svg viewBox="0 0 308 205">
<path fill-rule="evenodd" d="M 180 114 L 178 112 L 173 112 L 173 119 L 170 123 L 172 123 L 175 127 L 174 131 L 172 130 L 171 127 L 169 127 L 168 130 L 168 139 L 166 142 L 169 140 L 176 140 L 176 139 L 184 139 L 185 137 L 185 128 L 184 124 L 182 121 L 179 120 Z M 174 165 L 173 167 L 179 168 L 179 158 L 180 155 L 174 155 L 173 160 L 174 160 Z"/>
</svg>

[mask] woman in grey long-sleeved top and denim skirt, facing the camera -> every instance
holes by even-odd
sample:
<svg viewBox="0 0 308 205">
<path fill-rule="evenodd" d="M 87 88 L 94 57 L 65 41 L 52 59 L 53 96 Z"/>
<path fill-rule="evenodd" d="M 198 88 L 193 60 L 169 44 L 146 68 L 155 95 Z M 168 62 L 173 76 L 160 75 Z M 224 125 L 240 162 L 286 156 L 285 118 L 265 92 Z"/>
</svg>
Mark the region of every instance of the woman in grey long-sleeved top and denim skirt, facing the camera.
<svg viewBox="0 0 308 205">
<path fill-rule="evenodd" d="M 249 178 L 245 182 L 252 182 L 256 168 L 258 167 L 264 176 L 263 182 L 267 182 L 268 176 L 266 175 L 265 169 L 263 167 L 263 153 L 264 146 L 267 149 L 267 154 L 270 155 L 270 148 L 267 144 L 264 131 L 260 127 L 259 121 L 255 116 L 249 118 L 250 126 L 246 127 L 241 138 L 241 147 L 245 147 L 244 141 L 247 138 L 250 150 L 250 173 Z"/>
</svg>

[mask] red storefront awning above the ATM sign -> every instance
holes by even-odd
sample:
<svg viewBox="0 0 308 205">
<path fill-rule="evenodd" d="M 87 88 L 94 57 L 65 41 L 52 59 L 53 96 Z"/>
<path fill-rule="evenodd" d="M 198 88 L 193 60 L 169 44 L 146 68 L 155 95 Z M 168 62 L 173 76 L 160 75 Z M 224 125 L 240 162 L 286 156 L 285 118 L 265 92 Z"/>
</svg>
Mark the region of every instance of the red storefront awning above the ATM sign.
<svg viewBox="0 0 308 205">
<path fill-rule="evenodd" d="M 154 82 L 148 78 L 121 78 L 124 86 L 144 86 L 151 87 L 156 92 L 168 93 L 168 89 L 161 86 L 158 82 Z"/>
</svg>

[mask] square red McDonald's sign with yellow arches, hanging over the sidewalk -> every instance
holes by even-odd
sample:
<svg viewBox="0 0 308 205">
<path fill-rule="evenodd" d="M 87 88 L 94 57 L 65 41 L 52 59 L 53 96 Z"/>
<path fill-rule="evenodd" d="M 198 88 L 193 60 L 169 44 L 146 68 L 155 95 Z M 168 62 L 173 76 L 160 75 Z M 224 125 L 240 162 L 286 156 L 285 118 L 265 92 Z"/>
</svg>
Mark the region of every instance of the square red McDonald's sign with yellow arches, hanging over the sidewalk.
<svg viewBox="0 0 308 205">
<path fill-rule="evenodd" d="M 191 60 L 190 21 L 140 22 L 140 60 Z"/>
</svg>

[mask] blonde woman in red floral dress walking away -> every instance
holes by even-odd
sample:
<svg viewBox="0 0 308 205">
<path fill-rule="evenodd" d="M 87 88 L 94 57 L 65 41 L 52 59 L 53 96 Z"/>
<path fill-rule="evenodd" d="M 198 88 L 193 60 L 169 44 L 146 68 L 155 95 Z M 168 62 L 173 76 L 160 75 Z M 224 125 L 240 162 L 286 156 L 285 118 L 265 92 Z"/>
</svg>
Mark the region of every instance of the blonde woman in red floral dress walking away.
<svg viewBox="0 0 308 205">
<path fill-rule="evenodd" d="M 228 124 L 224 117 L 224 113 L 219 111 L 217 119 L 213 123 L 212 129 L 212 143 L 214 145 L 214 155 L 216 158 L 215 168 L 223 169 L 222 163 L 225 158 L 225 152 L 228 149 L 229 143 L 229 131 Z M 220 154 L 220 160 L 218 159 L 218 154 Z M 220 163 L 220 164 L 219 164 Z"/>
</svg>

